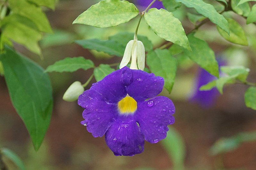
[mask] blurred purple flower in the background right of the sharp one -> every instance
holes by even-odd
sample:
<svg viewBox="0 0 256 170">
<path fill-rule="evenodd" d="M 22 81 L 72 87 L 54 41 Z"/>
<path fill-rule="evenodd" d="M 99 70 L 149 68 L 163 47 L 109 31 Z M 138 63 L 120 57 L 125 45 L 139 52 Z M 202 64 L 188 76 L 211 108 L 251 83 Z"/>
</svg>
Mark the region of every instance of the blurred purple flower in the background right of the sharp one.
<svg viewBox="0 0 256 170">
<path fill-rule="evenodd" d="M 220 66 L 226 65 L 226 62 L 223 59 L 218 58 L 217 62 Z M 221 73 L 220 73 L 221 74 Z M 208 91 L 200 91 L 200 87 L 207 84 L 210 81 L 216 80 L 217 78 L 212 74 L 208 73 L 201 67 L 198 70 L 198 74 L 195 81 L 195 91 L 192 96 L 189 98 L 190 102 L 195 102 L 200 104 L 204 108 L 211 107 L 215 104 L 217 97 L 220 95 L 219 91 L 216 87 L 212 88 Z"/>
</svg>

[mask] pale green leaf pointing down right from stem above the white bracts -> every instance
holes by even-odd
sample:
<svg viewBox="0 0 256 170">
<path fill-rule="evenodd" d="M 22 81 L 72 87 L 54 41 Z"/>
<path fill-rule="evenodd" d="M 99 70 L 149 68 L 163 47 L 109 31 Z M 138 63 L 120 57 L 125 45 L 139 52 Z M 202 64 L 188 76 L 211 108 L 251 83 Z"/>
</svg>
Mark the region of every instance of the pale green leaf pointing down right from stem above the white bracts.
<svg viewBox="0 0 256 170">
<path fill-rule="evenodd" d="M 171 12 L 162 8 L 160 10 L 151 8 L 145 13 L 145 20 L 156 35 L 191 51 L 180 20 L 175 18 Z"/>
</svg>

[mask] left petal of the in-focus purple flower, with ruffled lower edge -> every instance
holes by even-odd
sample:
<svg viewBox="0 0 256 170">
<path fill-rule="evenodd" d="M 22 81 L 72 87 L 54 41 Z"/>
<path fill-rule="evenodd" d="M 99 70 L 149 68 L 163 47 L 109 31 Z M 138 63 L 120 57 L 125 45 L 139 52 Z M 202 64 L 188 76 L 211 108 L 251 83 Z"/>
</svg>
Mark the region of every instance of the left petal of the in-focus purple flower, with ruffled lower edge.
<svg viewBox="0 0 256 170">
<path fill-rule="evenodd" d="M 109 103 L 105 97 L 92 89 L 84 91 L 78 97 L 78 104 L 85 109 L 84 121 L 81 124 L 87 126 L 93 137 L 102 137 L 118 115 L 117 105 Z"/>
</svg>

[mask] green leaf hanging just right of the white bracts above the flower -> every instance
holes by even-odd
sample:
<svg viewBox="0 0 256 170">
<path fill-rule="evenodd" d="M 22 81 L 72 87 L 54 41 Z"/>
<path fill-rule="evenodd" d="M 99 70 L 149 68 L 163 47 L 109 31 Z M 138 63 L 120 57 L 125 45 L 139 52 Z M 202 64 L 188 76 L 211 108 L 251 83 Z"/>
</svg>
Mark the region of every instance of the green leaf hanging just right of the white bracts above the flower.
<svg viewBox="0 0 256 170">
<path fill-rule="evenodd" d="M 147 65 L 152 73 L 164 78 L 164 87 L 171 93 L 177 71 L 177 60 L 167 49 L 150 51 Z"/>
</svg>

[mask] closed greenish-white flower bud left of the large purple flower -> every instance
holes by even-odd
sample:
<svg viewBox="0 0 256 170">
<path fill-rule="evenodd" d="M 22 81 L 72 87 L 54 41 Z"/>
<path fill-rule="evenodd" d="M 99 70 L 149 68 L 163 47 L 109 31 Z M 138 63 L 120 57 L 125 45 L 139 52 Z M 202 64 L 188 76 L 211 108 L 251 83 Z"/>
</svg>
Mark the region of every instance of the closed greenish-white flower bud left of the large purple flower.
<svg viewBox="0 0 256 170">
<path fill-rule="evenodd" d="M 67 102 L 74 102 L 78 96 L 84 92 L 84 87 L 80 81 L 73 82 L 64 93 L 62 99 Z"/>
</svg>

